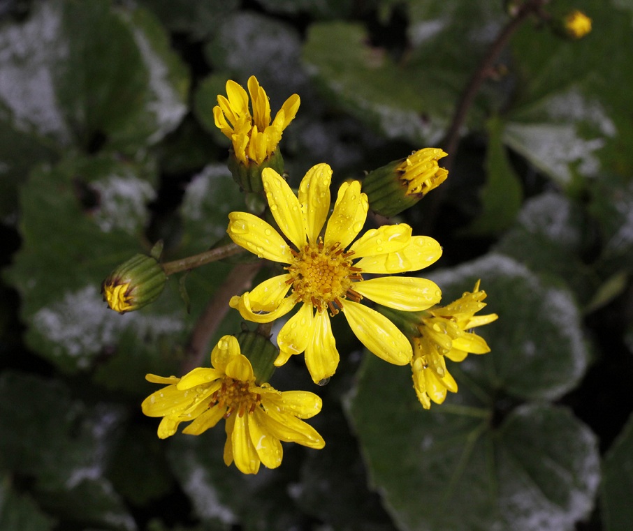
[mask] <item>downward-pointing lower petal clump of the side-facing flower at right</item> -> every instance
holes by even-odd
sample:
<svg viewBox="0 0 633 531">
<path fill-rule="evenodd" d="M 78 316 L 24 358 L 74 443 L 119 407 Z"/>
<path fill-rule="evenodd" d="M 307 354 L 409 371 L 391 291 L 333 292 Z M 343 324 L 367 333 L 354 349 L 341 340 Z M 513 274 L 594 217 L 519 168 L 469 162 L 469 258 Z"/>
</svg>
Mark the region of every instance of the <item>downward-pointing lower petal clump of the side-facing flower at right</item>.
<svg viewBox="0 0 633 531">
<path fill-rule="evenodd" d="M 444 356 L 437 352 L 424 353 L 420 338 L 414 338 L 414 358 L 411 363 L 413 386 L 418 400 L 425 410 L 430 409 L 431 401 L 441 404 L 446 391 L 457 392 L 457 382 L 448 369 Z"/>
</svg>

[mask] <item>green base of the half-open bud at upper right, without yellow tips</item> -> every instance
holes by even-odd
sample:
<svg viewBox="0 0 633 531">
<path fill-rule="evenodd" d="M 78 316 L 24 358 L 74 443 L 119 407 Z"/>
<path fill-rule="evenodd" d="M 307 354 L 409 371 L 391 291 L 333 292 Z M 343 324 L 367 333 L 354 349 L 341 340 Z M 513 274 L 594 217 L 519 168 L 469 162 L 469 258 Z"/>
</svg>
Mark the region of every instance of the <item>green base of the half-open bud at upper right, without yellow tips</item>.
<svg viewBox="0 0 633 531">
<path fill-rule="evenodd" d="M 370 209 L 376 214 L 391 218 L 414 206 L 423 194 L 407 195 L 407 182 L 400 179 L 397 168 L 405 158 L 394 160 L 369 172 L 363 179 L 363 192 L 367 194 Z"/>
</svg>

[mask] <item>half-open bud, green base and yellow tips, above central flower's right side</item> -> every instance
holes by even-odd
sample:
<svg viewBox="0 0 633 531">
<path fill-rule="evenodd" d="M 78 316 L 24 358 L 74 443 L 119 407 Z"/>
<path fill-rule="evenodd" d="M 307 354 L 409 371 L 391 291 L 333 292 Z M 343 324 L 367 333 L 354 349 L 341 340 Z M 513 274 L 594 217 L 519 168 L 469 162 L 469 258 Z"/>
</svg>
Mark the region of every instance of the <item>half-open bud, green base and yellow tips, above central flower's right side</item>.
<svg viewBox="0 0 633 531">
<path fill-rule="evenodd" d="M 363 180 L 370 208 L 390 218 L 413 207 L 448 177 L 449 172 L 437 164 L 445 156 L 442 149 L 427 147 L 370 172 Z"/>
</svg>

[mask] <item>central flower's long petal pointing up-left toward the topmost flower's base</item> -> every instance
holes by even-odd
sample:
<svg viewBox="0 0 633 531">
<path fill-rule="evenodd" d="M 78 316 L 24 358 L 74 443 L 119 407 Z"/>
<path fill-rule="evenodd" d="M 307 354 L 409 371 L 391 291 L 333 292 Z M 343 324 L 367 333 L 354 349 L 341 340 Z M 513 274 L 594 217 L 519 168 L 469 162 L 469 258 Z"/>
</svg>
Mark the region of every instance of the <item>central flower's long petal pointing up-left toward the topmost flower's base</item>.
<svg viewBox="0 0 633 531">
<path fill-rule="evenodd" d="M 305 246 L 305 227 L 299 200 L 288 183 L 272 168 L 264 168 L 261 180 L 272 217 L 295 247 L 302 249 Z"/>
</svg>

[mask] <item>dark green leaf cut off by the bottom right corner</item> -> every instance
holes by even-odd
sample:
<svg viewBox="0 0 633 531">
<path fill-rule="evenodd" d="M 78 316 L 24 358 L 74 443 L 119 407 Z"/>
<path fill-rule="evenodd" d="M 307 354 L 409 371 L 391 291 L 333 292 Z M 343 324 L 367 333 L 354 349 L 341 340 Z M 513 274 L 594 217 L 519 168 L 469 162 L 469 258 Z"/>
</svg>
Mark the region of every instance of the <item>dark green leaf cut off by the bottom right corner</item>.
<svg viewBox="0 0 633 531">
<path fill-rule="evenodd" d="M 604 457 L 602 521 L 605 531 L 628 531 L 633 522 L 633 416 Z"/>
</svg>

